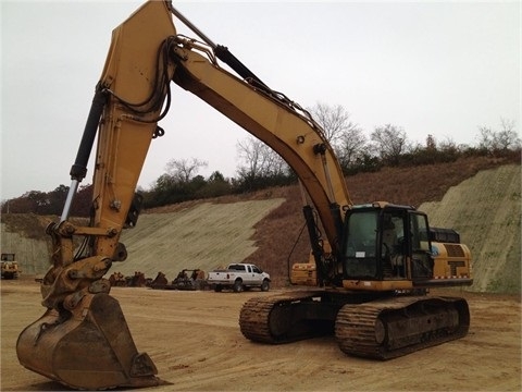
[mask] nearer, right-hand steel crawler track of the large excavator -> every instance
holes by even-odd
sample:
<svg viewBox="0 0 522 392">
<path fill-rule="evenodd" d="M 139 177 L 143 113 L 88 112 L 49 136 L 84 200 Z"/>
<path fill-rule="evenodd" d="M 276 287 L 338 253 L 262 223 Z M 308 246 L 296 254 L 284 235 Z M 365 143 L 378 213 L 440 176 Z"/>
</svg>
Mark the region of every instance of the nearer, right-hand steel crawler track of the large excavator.
<svg viewBox="0 0 522 392">
<path fill-rule="evenodd" d="M 462 338 L 469 324 L 463 298 L 406 296 L 345 305 L 335 335 L 346 354 L 390 359 Z"/>
</svg>

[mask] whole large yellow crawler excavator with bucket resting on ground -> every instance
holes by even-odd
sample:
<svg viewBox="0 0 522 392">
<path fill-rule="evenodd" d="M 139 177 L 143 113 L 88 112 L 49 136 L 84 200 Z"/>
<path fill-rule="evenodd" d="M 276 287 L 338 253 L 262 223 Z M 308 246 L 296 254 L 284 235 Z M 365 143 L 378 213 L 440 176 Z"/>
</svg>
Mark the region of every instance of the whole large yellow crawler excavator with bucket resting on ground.
<svg viewBox="0 0 522 392">
<path fill-rule="evenodd" d="M 178 35 L 173 15 L 199 38 Z M 427 295 L 430 287 L 472 283 L 470 252 L 458 234 L 431 229 L 410 206 L 355 206 L 324 132 L 306 110 L 170 1 L 149 1 L 113 30 L 61 219 L 47 228 L 53 249 L 41 282 L 46 310 L 18 336 L 23 366 L 75 389 L 159 384 L 103 277 L 126 258 L 120 236 L 137 223 L 135 189 L 151 140 L 164 134 L 158 122 L 171 106 L 171 81 L 272 147 L 308 195 L 318 286 L 248 301 L 239 315 L 247 339 L 285 343 L 335 333 L 343 352 L 387 359 L 467 334 L 467 302 Z M 90 223 L 82 226 L 70 210 L 96 138 Z"/>
</svg>

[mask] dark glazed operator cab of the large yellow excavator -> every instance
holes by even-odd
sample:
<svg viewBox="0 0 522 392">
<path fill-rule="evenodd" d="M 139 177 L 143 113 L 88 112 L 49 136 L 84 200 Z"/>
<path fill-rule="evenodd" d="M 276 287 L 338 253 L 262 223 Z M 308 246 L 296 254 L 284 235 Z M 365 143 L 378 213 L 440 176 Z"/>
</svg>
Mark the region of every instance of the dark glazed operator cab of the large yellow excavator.
<svg viewBox="0 0 522 392">
<path fill-rule="evenodd" d="M 344 280 L 410 281 L 431 279 L 434 260 L 427 217 L 413 207 L 386 203 L 355 206 L 346 213 L 341 248 Z M 368 287 L 370 289 L 370 287 Z"/>
</svg>

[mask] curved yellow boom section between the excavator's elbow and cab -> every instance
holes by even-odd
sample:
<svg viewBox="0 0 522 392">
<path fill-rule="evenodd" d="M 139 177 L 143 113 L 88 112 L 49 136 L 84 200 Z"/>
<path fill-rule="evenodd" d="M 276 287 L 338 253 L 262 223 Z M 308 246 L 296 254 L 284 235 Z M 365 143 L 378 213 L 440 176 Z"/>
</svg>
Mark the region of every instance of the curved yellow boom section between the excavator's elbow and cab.
<svg viewBox="0 0 522 392">
<path fill-rule="evenodd" d="M 212 63 L 195 50 L 194 42 L 183 38 L 177 41 L 174 83 L 276 151 L 308 191 L 326 237 L 337 244 L 340 207 L 349 206 L 351 201 L 338 160 L 319 124 L 295 102 Z"/>
</svg>

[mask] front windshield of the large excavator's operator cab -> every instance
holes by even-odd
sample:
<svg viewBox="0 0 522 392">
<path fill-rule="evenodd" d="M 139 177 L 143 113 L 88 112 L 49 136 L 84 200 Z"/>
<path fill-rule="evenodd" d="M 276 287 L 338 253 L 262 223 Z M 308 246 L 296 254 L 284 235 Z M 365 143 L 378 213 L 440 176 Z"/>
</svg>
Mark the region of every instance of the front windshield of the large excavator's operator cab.
<svg viewBox="0 0 522 392">
<path fill-rule="evenodd" d="M 375 210 L 353 210 L 347 216 L 343 252 L 347 278 L 376 275 L 377 219 Z"/>
</svg>

